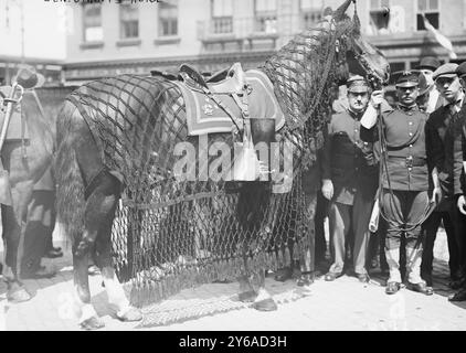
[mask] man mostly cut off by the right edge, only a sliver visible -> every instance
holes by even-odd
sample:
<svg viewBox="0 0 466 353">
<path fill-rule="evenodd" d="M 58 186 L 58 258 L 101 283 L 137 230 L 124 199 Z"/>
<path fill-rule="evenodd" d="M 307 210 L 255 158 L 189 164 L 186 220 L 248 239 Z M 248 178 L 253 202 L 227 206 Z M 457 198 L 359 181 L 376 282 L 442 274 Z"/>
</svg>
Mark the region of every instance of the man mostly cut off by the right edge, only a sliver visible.
<svg viewBox="0 0 466 353">
<path fill-rule="evenodd" d="M 456 68 L 456 75 L 459 77 L 459 83 L 463 86 L 463 92 L 466 90 L 466 62 L 460 64 Z M 455 104 L 455 110 L 458 110 L 458 105 Z M 462 136 L 462 154 L 455 153 L 455 181 L 460 184 L 460 192 L 455 193 L 457 196 L 457 211 L 459 212 L 458 217 L 463 224 L 466 223 L 466 99 L 463 97 L 463 104 L 460 104 L 460 110 L 458 113 L 458 119 L 462 120 L 460 130 L 458 131 Z M 462 167 L 459 167 L 462 165 Z M 462 232 L 462 233 L 460 233 Z M 459 267 L 462 268 L 463 275 L 466 274 L 466 227 L 457 233 L 458 243 L 458 258 Z M 448 298 L 451 301 L 464 301 L 466 300 L 466 280 L 460 282 L 460 289 L 458 292 Z"/>
</svg>

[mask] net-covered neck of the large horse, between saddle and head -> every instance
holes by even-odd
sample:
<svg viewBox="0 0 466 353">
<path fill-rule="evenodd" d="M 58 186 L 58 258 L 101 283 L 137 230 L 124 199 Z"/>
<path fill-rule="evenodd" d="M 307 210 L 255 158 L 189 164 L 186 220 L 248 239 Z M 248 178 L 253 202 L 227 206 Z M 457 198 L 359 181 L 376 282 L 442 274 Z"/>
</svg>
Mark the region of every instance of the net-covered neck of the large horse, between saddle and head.
<svg viewBox="0 0 466 353">
<path fill-rule="evenodd" d="M 330 92 L 349 46 L 342 39 L 357 35 L 358 25 L 347 15 L 338 23 L 326 18 L 317 28 L 297 34 L 262 67 L 274 84 L 286 115 L 286 129 L 305 129 L 303 142 L 310 149 L 306 153 L 310 163 L 324 142 L 321 131 L 331 114 Z"/>
</svg>

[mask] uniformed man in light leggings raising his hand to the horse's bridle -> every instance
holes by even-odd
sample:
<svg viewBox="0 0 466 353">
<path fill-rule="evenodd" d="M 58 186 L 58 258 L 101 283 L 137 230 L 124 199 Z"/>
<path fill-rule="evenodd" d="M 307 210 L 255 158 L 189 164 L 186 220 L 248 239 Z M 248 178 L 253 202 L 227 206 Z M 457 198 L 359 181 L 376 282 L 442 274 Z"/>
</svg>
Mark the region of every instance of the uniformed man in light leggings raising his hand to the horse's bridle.
<svg viewBox="0 0 466 353">
<path fill-rule="evenodd" d="M 425 148 L 427 115 L 419 110 L 417 75 L 405 72 L 396 81 L 399 104 L 396 109 L 381 109 L 381 122 L 385 152 L 381 163 L 385 165 L 382 179 L 381 212 L 388 220 L 385 257 L 390 278 L 385 292 L 393 295 L 401 288 L 400 249 L 405 237 L 407 288 L 432 295 L 421 278 L 422 244 L 421 224 L 428 200 L 428 170 Z M 371 103 L 361 119 L 361 139 L 378 139 L 378 108 L 384 101 L 383 92 L 372 93 Z"/>
</svg>

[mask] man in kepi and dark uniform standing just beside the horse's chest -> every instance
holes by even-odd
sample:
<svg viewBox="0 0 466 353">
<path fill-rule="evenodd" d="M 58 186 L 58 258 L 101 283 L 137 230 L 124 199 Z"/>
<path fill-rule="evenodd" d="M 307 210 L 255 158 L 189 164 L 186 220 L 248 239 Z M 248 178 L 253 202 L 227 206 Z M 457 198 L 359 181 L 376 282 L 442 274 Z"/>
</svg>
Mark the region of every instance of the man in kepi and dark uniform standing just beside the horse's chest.
<svg viewBox="0 0 466 353">
<path fill-rule="evenodd" d="M 370 239 L 369 220 L 378 185 L 378 168 L 368 142 L 359 138 L 360 119 L 369 101 L 369 85 L 361 76 L 348 83 L 349 108 L 331 117 L 322 156 L 322 194 L 330 200 L 329 229 L 333 264 L 325 276 L 332 281 L 343 275 L 346 246 L 352 226 L 353 266 L 361 282 Z"/>
</svg>

